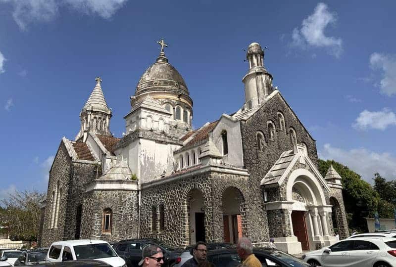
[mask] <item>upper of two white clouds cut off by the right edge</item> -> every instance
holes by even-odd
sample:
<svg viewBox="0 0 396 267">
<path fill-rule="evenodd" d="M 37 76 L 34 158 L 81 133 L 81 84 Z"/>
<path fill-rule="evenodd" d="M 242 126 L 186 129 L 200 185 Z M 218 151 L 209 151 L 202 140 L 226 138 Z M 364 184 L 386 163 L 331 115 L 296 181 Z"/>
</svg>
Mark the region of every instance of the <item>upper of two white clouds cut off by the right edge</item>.
<svg viewBox="0 0 396 267">
<path fill-rule="evenodd" d="M 377 85 L 380 92 L 388 96 L 396 94 L 396 55 L 372 53 L 370 67 L 383 71 L 382 79 Z"/>
</svg>

